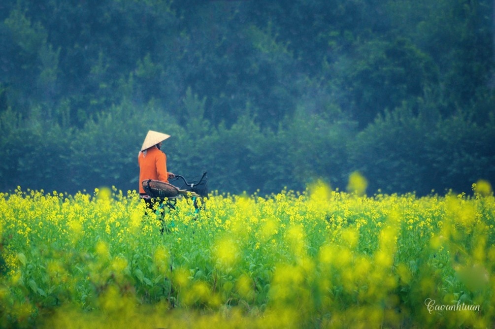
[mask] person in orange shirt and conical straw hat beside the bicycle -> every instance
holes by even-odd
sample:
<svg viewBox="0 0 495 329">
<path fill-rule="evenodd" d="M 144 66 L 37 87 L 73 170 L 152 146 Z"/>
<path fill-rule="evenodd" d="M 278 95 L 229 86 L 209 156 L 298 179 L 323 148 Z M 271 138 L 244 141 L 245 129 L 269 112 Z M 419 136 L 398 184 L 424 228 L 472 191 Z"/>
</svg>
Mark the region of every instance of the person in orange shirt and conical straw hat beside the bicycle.
<svg viewBox="0 0 495 329">
<path fill-rule="evenodd" d="M 175 175 L 167 171 L 167 156 L 161 151 L 163 141 L 170 135 L 148 131 L 141 151 L 138 154 L 139 163 L 139 194 L 150 206 L 150 198 L 143 188 L 143 181 L 157 180 L 168 183 Z"/>
</svg>

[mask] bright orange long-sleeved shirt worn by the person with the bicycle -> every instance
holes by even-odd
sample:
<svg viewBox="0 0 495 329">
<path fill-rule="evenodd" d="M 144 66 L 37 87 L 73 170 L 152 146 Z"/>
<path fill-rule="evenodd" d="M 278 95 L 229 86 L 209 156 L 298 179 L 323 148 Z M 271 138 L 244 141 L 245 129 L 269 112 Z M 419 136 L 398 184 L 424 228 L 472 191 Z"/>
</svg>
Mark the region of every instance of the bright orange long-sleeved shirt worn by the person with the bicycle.
<svg viewBox="0 0 495 329">
<path fill-rule="evenodd" d="M 138 155 L 139 163 L 139 192 L 146 193 L 143 189 L 143 181 L 157 180 L 168 183 L 167 156 L 156 146 L 146 150 L 146 156 L 143 151 Z"/>
</svg>

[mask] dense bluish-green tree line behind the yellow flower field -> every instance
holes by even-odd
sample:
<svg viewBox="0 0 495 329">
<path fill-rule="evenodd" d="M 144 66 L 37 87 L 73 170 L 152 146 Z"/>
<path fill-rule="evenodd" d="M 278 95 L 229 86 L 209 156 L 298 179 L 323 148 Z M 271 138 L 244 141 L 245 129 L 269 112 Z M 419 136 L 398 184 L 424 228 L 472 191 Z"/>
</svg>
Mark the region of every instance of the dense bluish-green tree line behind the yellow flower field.
<svg viewBox="0 0 495 329">
<path fill-rule="evenodd" d="M 469 191 L 495 181 L 489 0 L 5 0 L 0 189 Z"/>
</svg>

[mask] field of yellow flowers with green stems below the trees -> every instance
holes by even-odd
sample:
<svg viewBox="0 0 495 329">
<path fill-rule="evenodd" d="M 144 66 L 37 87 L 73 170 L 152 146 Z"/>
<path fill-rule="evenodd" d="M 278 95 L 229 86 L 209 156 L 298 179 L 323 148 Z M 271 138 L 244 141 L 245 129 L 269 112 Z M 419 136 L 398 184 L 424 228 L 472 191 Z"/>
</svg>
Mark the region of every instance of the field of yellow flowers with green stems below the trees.
<svg viewBox="0 0 495 329">
<path fill-rule="evenodd" d="M 0 194 L 0 327 L 495 325 L 487 182 L 470 196 L 316 184 L 165 209 L 106 188 Z"/>
</svg>

